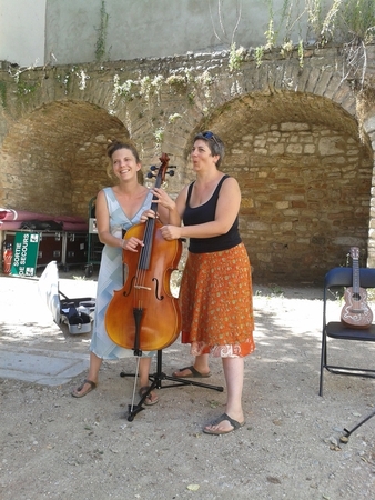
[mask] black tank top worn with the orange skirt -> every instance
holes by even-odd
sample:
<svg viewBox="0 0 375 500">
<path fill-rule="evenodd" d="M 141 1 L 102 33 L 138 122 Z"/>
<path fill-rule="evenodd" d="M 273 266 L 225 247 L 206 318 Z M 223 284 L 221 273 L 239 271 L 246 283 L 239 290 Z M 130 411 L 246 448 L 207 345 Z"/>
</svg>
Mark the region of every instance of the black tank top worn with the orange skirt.
<svg viewBox="0 0 375 500">
<path fill-rule="evenodd" d="M 184 226 L 203 224 L 215 220 L 216 204 L 222 183 L 229 176 L 223 176 L 210 200 L 199 207 L 190 207 L 190 198 L 194 182 L 189 186 L 186 208 L 183 214 Z M 192 253 L 210 253 L 219 252 L 221 250 L 229 250 L 241 243 L 239 232 L 239 216 L 235 218 L 232 228 L 225 234 L 220 234 L 213 238 L 190 238 L 189 251 Z"/>
</svg>

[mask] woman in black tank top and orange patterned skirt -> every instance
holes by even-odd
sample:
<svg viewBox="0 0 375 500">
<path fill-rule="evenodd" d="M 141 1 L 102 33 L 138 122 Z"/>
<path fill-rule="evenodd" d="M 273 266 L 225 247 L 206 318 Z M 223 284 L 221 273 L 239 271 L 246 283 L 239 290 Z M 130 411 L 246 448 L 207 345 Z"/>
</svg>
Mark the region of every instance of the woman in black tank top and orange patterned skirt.
<svg viewBox="0 0 375 500">
<path fill-rule="evenodd" d="M 255 349 L 251 266 L 239 233 L 241 192 L 237 181 L 219 170 L 223 156 L 217 136 L 199 133 L 191 152 L 196 180 L 175 202 L 163 190 L 154 190 L 170 213 L 169 224 L 161 229 L 163 237 L 190 239 L 180 301 L 182 342 L 191 343 L 195 363 L 174 376 L 207 377 L 209 354 L 223 362 L 225 412 L 203 428 L 210 434 L 225 434 L 244 424 L 244 357 Z"/>
</svg>

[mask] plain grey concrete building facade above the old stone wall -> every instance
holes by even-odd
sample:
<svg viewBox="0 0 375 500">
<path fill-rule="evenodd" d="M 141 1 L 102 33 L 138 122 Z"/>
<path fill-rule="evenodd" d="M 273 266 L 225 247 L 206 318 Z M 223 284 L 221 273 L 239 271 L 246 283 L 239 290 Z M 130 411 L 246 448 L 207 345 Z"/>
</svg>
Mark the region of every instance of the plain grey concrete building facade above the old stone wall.
<svg viewBox="0 0 375 500">
<path fill-rule="evenodd" d="M 283 3 L 273 2 L 278 43 Z M 295 43 L 307 37 L 305 21 L 292 30 Z M 30 67 L 213 52 L 233 42 L 249 49 L 266 43 L 268 22 L 266 0 L 0 0 L 0 60 Z"/>
</svg>

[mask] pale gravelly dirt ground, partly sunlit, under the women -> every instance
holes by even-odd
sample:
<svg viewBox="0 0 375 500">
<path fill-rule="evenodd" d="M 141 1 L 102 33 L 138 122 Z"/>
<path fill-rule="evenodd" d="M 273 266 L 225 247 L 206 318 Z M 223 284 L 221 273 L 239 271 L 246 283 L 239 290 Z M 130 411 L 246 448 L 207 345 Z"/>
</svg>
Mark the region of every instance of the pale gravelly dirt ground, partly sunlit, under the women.
<svg viewBox="0 0 375 500">
<path fill-rule="evenodd" d="M 61 280 L 65 291 L 69 283 L 73 291 L 82 282 L 95 287 L 94 276 L 74 276 Z M 53 323 L 38 302 L 37 280 L 0 276 L 0 350 L 89 356 L 90 334 L 71 336 Z M 98 389 L 82 399 L 70 391 L 84 373 L 58 387 L 0 379 L 0 498 L 373 499 L 375 417 L 346 444 L 339 438 L 375 411 L 375 382 L 325 373 L 318 396 L 321 297 L 321 288 L 307 284 L 254 286 L 256 351 L 245 361 L 246 424 L 227 436 L 202 433 L 223 412 L 225 391 L 165 381 L 159 403 L 129 421 L 134 379 L 119 373 L 133 372 L 133 358 L 104 362 Z M 332 308 L 339 313 L 334 298 Z M 368 346 L 346 342 L 332 352 L 374 364 Z M 163 351 L 162 369 L 171 374 L 191 361 L 178 340 Z M 205 382 L 222 386 L 221 362 L 212 360 L 211 370 Z"/>
</svg>

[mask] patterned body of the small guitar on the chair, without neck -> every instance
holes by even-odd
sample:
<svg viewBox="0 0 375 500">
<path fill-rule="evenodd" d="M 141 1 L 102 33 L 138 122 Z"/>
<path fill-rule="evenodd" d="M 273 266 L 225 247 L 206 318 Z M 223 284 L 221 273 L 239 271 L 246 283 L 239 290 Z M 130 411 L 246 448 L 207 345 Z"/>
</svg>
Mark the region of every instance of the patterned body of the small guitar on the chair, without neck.
<svg viewBox="0 0 375 500">
<path fill-rule="evenodd" d="M 368 328 L 373 322 L 373 311 L 367 306 L 367 292 L 359 287 L 358 292 L 354 292 L 349 287 L 344 294 L 345 306 L 341 313 L 341 320 L 348 327 Z"/>
</svg>

